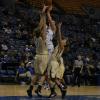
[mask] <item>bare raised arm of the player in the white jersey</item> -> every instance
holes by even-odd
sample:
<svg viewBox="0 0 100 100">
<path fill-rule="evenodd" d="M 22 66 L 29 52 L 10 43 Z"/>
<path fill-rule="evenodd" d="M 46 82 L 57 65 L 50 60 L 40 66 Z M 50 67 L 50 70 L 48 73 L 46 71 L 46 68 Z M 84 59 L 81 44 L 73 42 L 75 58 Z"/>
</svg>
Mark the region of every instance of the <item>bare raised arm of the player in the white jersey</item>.
<svg viewBox="0 0 100 100">
<path fill-rule="evenodd" d="M 56 25 L 55 25 L 55 21 L 52 19 L 51 14 L 50 14 L 51 10 L 52 10 L 52 6 L 50 6 L 47 10 L 47 17 L 48 17 L 48 21 L 49 21 L 49 24 L 51 26 L 51 29 L 55 33 L 56 32 Z"/>
</svg>

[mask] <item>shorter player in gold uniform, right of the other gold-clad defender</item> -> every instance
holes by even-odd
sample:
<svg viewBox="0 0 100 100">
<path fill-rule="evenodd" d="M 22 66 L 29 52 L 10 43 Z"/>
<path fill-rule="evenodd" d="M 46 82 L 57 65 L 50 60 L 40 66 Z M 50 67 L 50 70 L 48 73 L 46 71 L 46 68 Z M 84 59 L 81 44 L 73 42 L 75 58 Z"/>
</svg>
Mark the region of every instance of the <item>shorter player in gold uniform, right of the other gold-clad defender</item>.
<svg viewBox="0 0 100 100">
<path fill-rule="evenodd" d="M 64 51 L 64 46 L 66 45 L 66 39 L 61 38 L 61 23 L 57 25 L 57 33 L 58 33 L 58 45 L 55 47 L 49 62 L 48 67 L 48 75 L 50 76 L 50 87 L 51 87 L 51 94 L 49 98 L 55 97 L 55 84 L 60 88 L 62 93 L 62 98 L 66 95 L 66 88 L 62 83 L 63 74 L 65 71 L 64 62 L 62 58 L 62 53 Z"/>
</svg>

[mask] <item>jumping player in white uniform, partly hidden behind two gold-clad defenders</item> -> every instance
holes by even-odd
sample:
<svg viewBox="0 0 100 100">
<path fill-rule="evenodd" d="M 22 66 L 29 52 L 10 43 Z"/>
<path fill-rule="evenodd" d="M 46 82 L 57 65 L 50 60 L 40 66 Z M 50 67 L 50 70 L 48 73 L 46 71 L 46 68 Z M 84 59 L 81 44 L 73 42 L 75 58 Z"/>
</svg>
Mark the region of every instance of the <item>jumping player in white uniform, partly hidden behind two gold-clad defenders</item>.
<svg viewBox="0 0 100 100">
<path fill-rule="evenodd" d="M 44 5 L 45 6 L 45 5 Z M 47 7 L 45 13 L 47 14 L 47 23 L 46 23 L 46 44 L 47 44 L 47 48 L 48 48 L 48 53 L 49 53 L 49 59 L 50 59 L 50 56 L 54 50 L 54 45 L 53 45 L 53 37 L 54 37 L 54 34 L 56 32 L 56 25 L 55 25 L 55 21 L 53 21 L 52 17 L 51 17 L 51 11 L 52 11 L 52 5 L 48 5 L 48 6 L 45 6 Z M 45 81 L 47 83 L 49 83 L 49 80 L 48 80 L 48 76 L 47 76 L 47 73 L 45 74 Z M 46 85 L 46 88 L 49 88 L 49 85 Z M 37 94 L 40 94 L 40 89 L 39 89 L 39 93 Z"/>
</svg>

